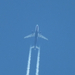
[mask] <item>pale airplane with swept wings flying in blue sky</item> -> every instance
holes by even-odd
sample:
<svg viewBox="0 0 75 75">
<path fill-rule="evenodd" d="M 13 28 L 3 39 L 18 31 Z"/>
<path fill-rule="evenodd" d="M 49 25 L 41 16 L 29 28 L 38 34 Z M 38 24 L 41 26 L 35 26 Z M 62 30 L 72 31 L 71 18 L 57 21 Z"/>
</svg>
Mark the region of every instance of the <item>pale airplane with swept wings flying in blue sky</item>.
<svg viewBox="0 0 75 75">
<path fill-rule="evenodd" d="M 41 35 L 41 34 L 39 33 L 39 26 L 38 26 L 38 25 L 36 25 L 36 27 L 35 27 L 35 33 L 32 33 L 32 34 L 30 34 L 30 35 L 28 35 L 28 36 L 25 36 L 24 39 L 25 39 L 25 38 L 29 38 L 29 37 L 35 37 L 34 46 L 33 46 L 34 49 L 38 48 L 38 47 L 36 46 L 36 44 L 37 44 L 37 38 L 38 38 L 38 37 L 43 38 L 43 39 L 45 39 L 45 40 L 48 40 L 46 37 L 44 37 L 43 35 Z"/>
</svg>

